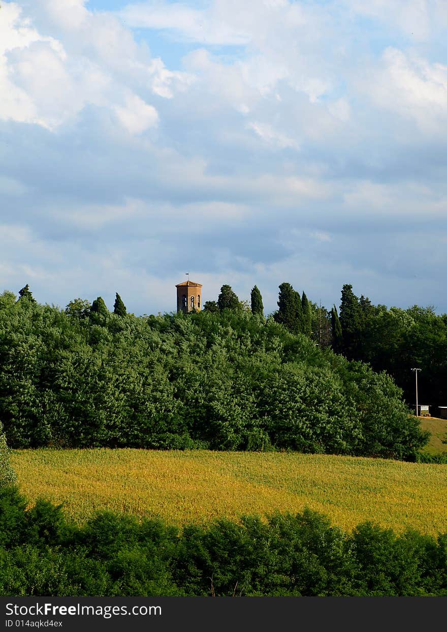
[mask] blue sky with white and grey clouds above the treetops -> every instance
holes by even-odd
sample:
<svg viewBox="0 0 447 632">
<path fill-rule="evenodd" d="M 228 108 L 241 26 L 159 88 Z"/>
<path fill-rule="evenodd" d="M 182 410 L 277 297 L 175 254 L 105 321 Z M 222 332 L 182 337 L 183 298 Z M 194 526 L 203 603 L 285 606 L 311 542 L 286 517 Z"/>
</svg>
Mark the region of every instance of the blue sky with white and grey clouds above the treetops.
<svg viewBox="0 0 447 632">
<path fill-rule="evenodd" d="M 447 312 L 445 0 L 0 4 L 0 293 Z"/>
</svg>

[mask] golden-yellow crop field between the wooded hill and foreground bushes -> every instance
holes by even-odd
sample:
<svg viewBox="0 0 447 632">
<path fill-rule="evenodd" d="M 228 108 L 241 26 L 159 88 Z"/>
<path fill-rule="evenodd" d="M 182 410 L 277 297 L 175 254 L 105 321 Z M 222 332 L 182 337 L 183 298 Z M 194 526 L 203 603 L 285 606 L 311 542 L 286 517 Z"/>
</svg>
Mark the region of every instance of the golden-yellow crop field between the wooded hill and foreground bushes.
<svg viewBox="0 0 447 632">
<path fill-rule="evenodd" d="M 371 520 L 396 532 L 447 532 L 447 465 L 297 453 L 21 450 L 21 492 L 63 504 L 83 523 L 95 510 L 170 524 L 305 506 L 351 530 Z"/>
</svg>

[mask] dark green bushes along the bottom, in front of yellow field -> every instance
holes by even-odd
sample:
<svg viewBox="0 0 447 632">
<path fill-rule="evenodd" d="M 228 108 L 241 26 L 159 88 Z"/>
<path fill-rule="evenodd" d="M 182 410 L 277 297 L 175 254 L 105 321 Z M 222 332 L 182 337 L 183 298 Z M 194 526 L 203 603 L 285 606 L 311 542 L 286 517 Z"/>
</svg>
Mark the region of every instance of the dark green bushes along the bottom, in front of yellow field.
<svg viewBox="0 0 447 632">
<path fill-rule="evenodd" d="M 447 533 L 344 533 L 308 509 L 182 531 L 101 513 L 80 528 L 61 507 L 25 505 L 0 489 L 1 595 L 447 595 Z"/>
</svg>

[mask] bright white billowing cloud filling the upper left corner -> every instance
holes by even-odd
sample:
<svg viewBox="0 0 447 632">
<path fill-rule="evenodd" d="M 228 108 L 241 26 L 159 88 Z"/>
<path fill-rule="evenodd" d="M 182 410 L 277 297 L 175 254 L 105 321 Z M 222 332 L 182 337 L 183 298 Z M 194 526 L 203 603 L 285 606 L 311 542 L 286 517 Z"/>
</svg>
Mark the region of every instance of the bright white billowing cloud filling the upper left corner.
<svg viewBox="0 0 447 632">
<path fill-rule="evenodd" d="M 152 95 L 172 98 L 191 82 L 152 59 L 113 16 L 93 15 L 77 0 L 36 4 L 41 32 L 15 3 L 1 9 L 0 119 L 56 130 L 92 105 L 111 109 L 129 133 L 138 134 L 157 123 Z"/>
</svg>

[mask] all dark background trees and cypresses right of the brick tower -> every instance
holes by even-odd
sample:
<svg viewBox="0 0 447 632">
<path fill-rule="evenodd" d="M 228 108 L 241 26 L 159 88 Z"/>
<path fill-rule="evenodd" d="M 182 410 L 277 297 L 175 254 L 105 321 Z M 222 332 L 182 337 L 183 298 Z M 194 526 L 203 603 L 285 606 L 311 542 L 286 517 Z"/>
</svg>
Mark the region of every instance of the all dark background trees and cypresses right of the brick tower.
<svg viewBox="0 0 447 632">
<path fill-rule="evenodd" d="M 230 286 L 223 286 L 218 308 L 230 296 Z M 223 289 L 223 288 L 222 288 Z M 234 295 L 231 307 L 237 306 Z M 259 307 L 260 306 L 260 307 Z M 262 297 L 254 286 L 251 310 L 263 312 Z M 354 294 L 352 285 L 342 288 L 339 309 L 328 311 L 300 296 L 290 283 L 279 286 L 278 310 L 273 319 L 288 331 L 305 334 L 321 347 L 330 347 L 348 360 L 367 362 L 375 371 L 386 371 L 403 389 L 405 401 L 415 411 L 415 374 L 418 375 L 419 404 L 447 406 L 447 314 L 438 315 L 432 307 L 414 305 L 406 310 L 372 305 L 369 298 Z"/>
</svg>

